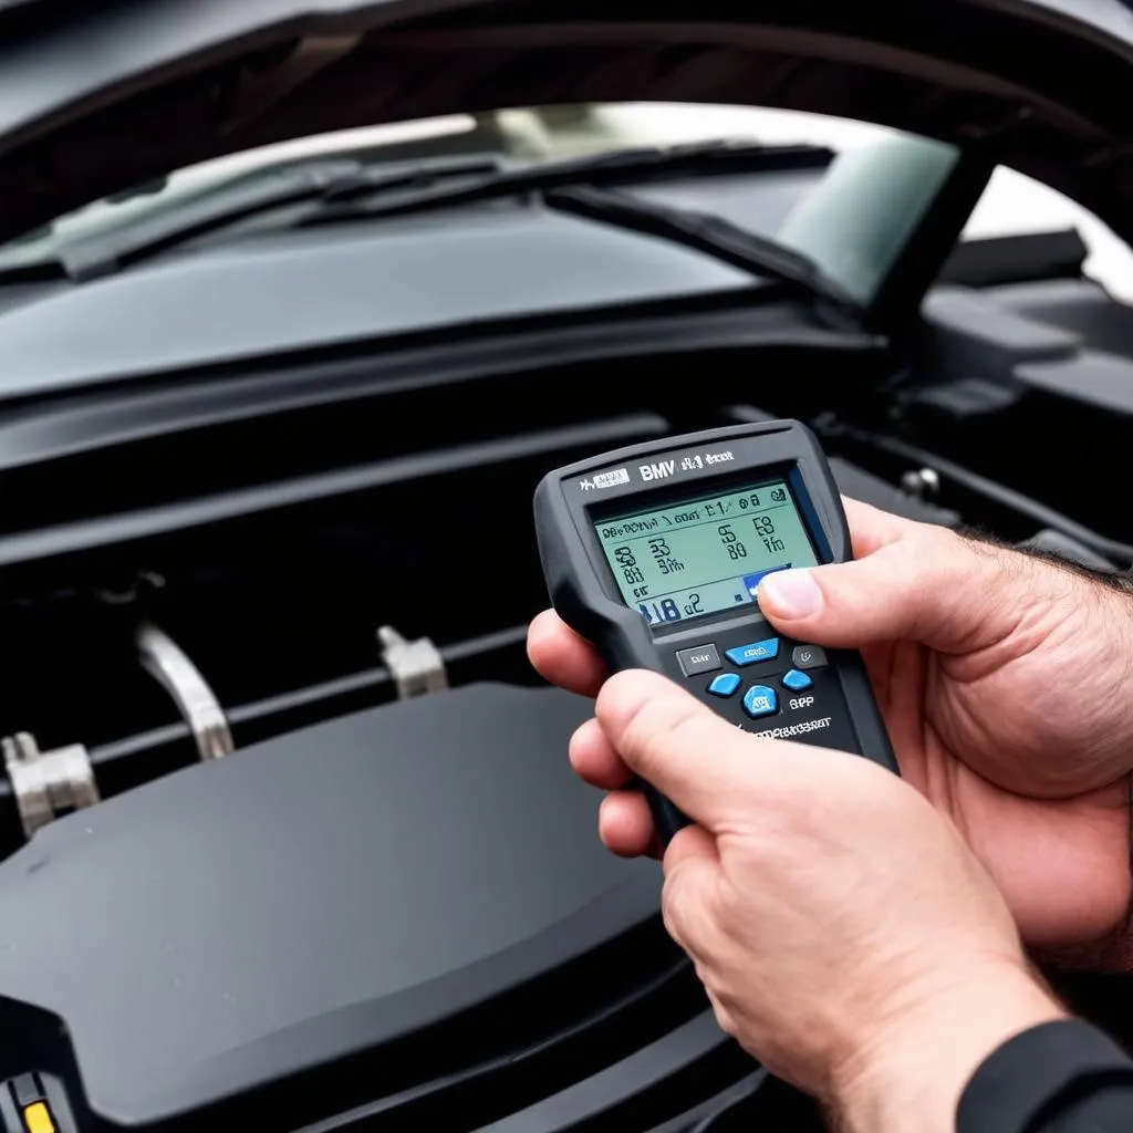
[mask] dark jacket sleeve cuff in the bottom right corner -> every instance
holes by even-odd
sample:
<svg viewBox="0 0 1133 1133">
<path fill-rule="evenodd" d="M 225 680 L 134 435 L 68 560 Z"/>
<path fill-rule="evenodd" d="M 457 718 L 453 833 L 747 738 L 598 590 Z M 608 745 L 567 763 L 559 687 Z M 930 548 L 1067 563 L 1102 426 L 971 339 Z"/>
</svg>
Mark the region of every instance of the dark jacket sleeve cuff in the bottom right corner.
<svg viewBox="0 0 1133 1133">
<path fill-rule="evenodd" d="M 972 1075 L 956 1133 L 1130 1133 L 1133 1060 L 1081 1020 L 1005 1042 Z"/>
</svg>

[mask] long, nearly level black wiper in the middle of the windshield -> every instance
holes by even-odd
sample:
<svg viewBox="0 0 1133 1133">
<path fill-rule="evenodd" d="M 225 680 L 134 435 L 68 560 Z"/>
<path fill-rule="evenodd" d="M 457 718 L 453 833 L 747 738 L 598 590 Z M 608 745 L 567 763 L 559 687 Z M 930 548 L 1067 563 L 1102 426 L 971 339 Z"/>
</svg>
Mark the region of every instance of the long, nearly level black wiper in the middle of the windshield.
<svg viewBox="0 0 1133 1133">
<path fill-rule="evenodd" d="M 381 196 L 365 189 L 348 187 L 341 194 L 329 193 L 299 216 L 296 228 L 332 224 L 339 221 L 369 220 L 380 216 L 406 216 L 433 210 L 518 196 L 525 193 L 547 193 L 578 185 L 625 185 L 654 176 L 676 176 L 682 172 L 755 173 L 789 169 L 819 169 L 829 163 L 833 153 L 807 145 L 767 146 L 759 143 L 697 142 L 676 146 L 646 146 L 615 150 L 611 153 L 571 157 L 565 161 L 504 169 L 462 185 L 441 185 L 424 191 L 397 191 L 398 186 L 383 187 Z M 394 191 L 390 191 L 392 188 Z"/>
</svg>

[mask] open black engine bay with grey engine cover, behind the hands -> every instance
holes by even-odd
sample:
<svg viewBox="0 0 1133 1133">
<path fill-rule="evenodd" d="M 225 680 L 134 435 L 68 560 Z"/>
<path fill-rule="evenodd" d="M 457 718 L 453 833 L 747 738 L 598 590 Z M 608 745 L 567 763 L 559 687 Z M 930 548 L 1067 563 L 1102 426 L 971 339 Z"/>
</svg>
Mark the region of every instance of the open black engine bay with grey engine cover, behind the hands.
<svg viewBox="0 0 1133 1133">
<path fill-rule="evenodd" d="M 531 493 L 790 416 L 846 495 L 1127 568 L 1128 517 L 1045 460 L 1075 434 L 1121 459 L 1127 310 L 1106 338 L 1087 281 L 1000 290 L 939 288 L 896 346 L 782 305 L 664 351 L 608 326 L 554 358 L 548 331 L 542 363 L 480 340 L 8 410 L 0 1013 L 34 1037 L 0 1043 L 9 1090 L 107 1130 L 741 1121 L 763 1072 L 655 871 L 593 836 L 564 759 L 587 705 L 527 662 Z"/>
</svg>

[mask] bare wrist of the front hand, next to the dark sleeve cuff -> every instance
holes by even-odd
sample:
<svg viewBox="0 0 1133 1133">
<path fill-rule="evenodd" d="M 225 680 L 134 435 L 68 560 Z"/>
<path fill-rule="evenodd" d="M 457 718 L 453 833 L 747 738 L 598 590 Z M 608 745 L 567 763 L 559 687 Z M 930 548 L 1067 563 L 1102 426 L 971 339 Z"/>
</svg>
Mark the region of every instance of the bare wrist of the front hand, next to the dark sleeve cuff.
<svg viewBox="0 0 1133 1133">
<path fill-rule="evenodd" d="M 953 1133 L 956 1106 L 980 1064 L 1008 1039 L 1066 1011 L 1022 961 L 994 961 L 905 988 L 888 1021 L 830 1082 L 827 1102 L 846 1133 Z"/>
</svg>

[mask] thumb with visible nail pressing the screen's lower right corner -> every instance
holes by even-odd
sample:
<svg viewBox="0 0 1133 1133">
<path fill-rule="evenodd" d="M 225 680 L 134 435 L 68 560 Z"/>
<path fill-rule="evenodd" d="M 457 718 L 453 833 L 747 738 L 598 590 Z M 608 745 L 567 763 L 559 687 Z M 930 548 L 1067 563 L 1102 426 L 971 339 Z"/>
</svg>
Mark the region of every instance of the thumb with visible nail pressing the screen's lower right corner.
<svg viewBox="0 0 1133 1133">
<path fill-rule="evenodd" d="M 1017 603 L 1003 600 L 1006 554 L 918 526 L 864 559 L 768 574 L 759 608 L 781 632 L 815 645 L 912 640 L 968 653 L 1017 620 Z"/>
</svg>

